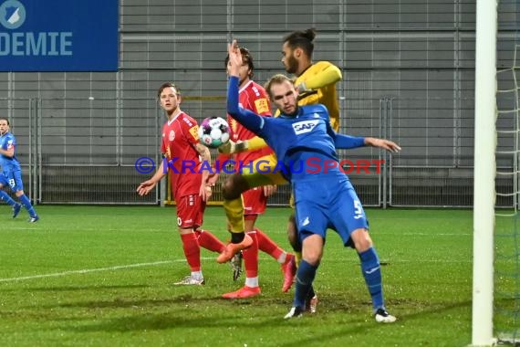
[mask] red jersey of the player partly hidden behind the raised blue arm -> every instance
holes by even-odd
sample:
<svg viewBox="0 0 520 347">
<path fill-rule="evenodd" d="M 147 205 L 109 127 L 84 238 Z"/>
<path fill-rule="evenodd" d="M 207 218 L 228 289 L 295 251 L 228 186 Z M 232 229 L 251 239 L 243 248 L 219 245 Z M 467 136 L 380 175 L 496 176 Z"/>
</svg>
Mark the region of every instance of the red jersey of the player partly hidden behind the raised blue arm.
<svg viewBox="0 0 520 347">
<path fill-rule="evenodd" d="M 238 91 L 238 102 L 243 109 L 252 110 L 261 116 L 271 117 L 272 115 L 271 104 L 264 87 L 253 80 L 247 82 L 247 84 Z M 242 124 L 235 121 L 230 115 L 227 116 L 227 121 L 231 128 L 231 140 L 233 140 L 233 142 L 250 140 L 256 136 L 255 133 L 245 129 Z M 249 163 L 272 152 L 269 147 L 265 147 L 256 151 L 236 153 L 234 154 L 234 160 L 236 162 L 242 161 L 243 163 Z"/>
</svg>

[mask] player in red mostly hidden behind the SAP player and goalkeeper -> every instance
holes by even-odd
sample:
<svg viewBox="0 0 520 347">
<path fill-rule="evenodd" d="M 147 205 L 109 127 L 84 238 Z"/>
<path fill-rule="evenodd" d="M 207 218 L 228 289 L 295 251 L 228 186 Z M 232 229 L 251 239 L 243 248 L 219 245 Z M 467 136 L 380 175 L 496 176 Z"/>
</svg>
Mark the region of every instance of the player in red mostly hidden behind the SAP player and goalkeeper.
<svg viewBox="0 0 520 347">
<path fill-rule="evenodd" d="M 260 86 L 253 80 L 253 70 L 255 68 L 251 53 L 244 47 L 240 48 L 244 64 L 240 68 L 240 105 L 247 110 L 253 110 L 256 114 L 265 117 L 271 116 L 271 104 L 264 87 Z M 229 57 L 225 58 L 226 70 L 229 68 Z M 256 135 L 244 128 L 243 125 L 235 121 L 228 115 L 227 121 L 231 127 L 231 139 L 233 142 L 243 142 L 254 138 Z M 273 151 L 269 147 L 264 147 L 256 151 L 239 152 L 234 154 L 234 163 L 238 163 L 236 169 L 243 167 L 248 170 L 247 165 L 252 164 L 256 159 L 271 154 Z M 229 154 L 220 154 L 219 163 L 224 163 L 225 156 Z M 242 194 L 244 200 L 244 230 L 245 233 L 253 239 L 253 245 L 242 251 L 244 257 L 245 268 L 245 285 L 236 291 L 225 293 L 225 299 L 241 299 L 250 298 L 260 294 L 260 286 L 258 285 L 258 250 L 269 254 L 280 263 L 282 272 L 284 273 L 284 289 L 285 291 L 291 286 L 293 276 L 296 271 L 295 256 L 287 253 L 281 247 L 265 235 L 265 233 L 255 227 L 256 219 L 265 212 L 267 204 L 267 196 L 273 194 L 276 185 L 265 185 L 255 187 Z"/>
</svg>

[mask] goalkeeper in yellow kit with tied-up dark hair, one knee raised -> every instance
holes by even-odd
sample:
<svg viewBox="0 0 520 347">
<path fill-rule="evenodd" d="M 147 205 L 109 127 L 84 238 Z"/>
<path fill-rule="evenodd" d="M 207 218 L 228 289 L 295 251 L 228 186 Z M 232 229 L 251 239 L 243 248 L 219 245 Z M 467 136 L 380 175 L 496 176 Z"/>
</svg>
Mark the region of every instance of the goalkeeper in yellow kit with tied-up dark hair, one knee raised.
<svg viewBox="0 0 520 347">
<path fill-rule="evenodd" d="M 298 89 L 298 105 L 324 104 L 330 115 L 330 123 L 334 131 L 339 130 L 339 107 L 336 83 L 341 80 L 341 71 L 338 67 L 328 61 L 318 61 L 313 64 L 312 53 L 314 50 L 315 29 L 294 31 L 284 37 L 282 48 L 282 63 L 286 71 L 296 75 L 295 85 Z M 276 116 L 279 111 L 276 112 Z M 240 143 L 228 142 L 220 149 L 221 152 L 244 152 L 252 151 L 266 144 L 264 140 L 255 137 L 249 141 Z M 266 163 L 269 164 L 266 164 Z M 259 163 L 262 163 L 261 165 Z M 249 166 L 251 170 L 243 174 L 233 174 L 224 183 L 224 210 L 229 221 L 232 233 L 231 243 L 219 258 L 218 262 L 226 262 L 233 257 L 239 249 L 247 247 L 249 240 L 244 239 L 244 206 L 241 194 L 255 186 L 266 184 L 286 184 L 286 179 L 278 172 L 276 173 L 276 156 L 269 155 L 259 158 Z M 255 170 L 262 167 L 263 173 Z M 293 206 L 291 198 L 291 206 Z M 294 213 L 291 214 L 287 226 L 289 242 L 296 252 L 301 252 L 301 245 L 296 233 Z M 288 290 L 289 286 L 284 288 Z M 311 295 L 307 302 L 308 310 L 316 310 L 316 298 Z"/>
</svg>

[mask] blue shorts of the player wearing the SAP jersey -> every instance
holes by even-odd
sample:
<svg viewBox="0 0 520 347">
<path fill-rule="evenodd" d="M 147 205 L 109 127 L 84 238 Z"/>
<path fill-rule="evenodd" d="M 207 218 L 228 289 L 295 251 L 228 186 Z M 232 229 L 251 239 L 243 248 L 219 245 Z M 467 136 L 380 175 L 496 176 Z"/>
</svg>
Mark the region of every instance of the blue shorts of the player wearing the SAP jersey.
<svg viewBox="0 0 520 347">
<path fill-rule="evenodd" d="M 346 176 L 293 184 L 296 227 L 301 240 L 312 234 L 324 239 L 327 228 L 335 230 L 345 246 L 353 247 L 350 233 L 369 228 L 356 191 Z"/>
</svg>

